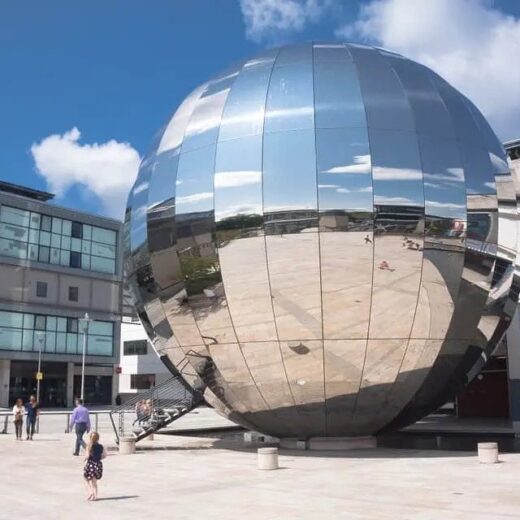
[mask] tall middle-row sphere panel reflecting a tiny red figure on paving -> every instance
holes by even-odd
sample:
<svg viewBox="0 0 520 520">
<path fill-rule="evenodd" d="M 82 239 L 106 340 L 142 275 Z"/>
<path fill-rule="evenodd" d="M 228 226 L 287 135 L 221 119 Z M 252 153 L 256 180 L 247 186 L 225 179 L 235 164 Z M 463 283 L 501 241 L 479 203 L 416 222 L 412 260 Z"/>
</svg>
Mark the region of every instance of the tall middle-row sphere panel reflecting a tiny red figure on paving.
<svg viewBox="0 0 520 520">
<path fill-rule="evenodd" d="M 376 208 L 371 338 L 407 338 L 419 294 L 424 191 L 417 139 L 369 129 Z"/>
</svg>

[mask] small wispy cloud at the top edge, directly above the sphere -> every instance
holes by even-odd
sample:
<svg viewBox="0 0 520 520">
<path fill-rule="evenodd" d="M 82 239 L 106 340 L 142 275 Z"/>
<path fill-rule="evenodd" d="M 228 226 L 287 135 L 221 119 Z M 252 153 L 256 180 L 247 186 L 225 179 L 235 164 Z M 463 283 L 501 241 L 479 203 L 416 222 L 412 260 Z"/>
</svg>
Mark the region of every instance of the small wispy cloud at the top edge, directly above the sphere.
<svg viewBox="0 0 520 520">
<path fill-rule="evenodd" d="M 317 22 L 331 0 L 240 0 L 246 37 L 255 42 L 300 32 Z"/>
</svg>

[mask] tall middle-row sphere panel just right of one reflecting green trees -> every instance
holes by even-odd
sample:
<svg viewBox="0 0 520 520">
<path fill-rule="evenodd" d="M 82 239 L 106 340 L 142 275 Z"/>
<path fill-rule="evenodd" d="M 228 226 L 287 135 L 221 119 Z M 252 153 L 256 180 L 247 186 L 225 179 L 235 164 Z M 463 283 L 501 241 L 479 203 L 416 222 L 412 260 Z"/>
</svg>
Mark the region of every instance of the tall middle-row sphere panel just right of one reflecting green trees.
<svg viewBox="0 0 520 520">
<path fill-rule="evenodd" d="M 239 341 L 276 340 L 261 236 L 261 136 L 220 142 L 214 182 L 219 263 L 237 337 Z M 243 269 L 245 264 L 249 269 Z"/>
</svg>

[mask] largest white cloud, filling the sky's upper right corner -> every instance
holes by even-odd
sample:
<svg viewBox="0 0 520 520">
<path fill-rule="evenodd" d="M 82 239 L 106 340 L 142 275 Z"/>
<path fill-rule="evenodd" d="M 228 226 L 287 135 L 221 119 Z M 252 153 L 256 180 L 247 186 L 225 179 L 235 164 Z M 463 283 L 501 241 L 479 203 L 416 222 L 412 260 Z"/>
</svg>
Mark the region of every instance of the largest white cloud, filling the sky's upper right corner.
<svg viewBox="0 0 520 520">
<path fill-rule="evenodd" d="M 466 94 L 501 139 L 519 137 L 520 18 L 484 0 L 373 0 L 337 35 L 424 63 Z"/>
</svg>

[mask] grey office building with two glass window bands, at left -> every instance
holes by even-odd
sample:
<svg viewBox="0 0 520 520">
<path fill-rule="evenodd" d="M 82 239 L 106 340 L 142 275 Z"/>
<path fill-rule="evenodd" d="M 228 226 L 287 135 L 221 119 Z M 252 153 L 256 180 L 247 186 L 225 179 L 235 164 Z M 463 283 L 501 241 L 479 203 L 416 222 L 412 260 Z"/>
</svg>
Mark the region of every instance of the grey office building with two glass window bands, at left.
<svg viewBox="0 0 520 520">
<path fill-rule="evenodd" d="M 121 223 L 49 204 L 52 194 L 0 183 L 0 406 L 36 392 L 45 407 L 117 395 Z M 88 326 L 82 318 L 89 314 Z"/>
</svg>

